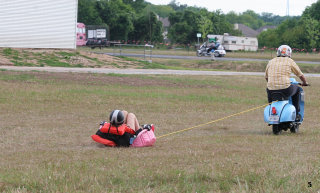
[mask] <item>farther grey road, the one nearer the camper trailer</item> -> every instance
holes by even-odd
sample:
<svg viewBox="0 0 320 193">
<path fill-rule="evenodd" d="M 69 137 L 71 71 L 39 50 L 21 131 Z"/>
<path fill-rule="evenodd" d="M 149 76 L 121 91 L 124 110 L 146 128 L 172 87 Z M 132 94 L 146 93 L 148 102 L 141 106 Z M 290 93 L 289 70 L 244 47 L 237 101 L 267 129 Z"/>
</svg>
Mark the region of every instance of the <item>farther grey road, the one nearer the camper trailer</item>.
<svg viewBox="0 0 320 193">
<path fill-rule="evenodd" d="M 119 56 L 119 53 L 100 53 L 95 52 L 96 54 L 107 54 L 107 55 L 116 55 Z M 129 54 L 129 53 L 122 53 L 122 56 L 129 56 L 129 57 L 139 57 L 144 58 L 143 54 Z M 152 55 L 152 58 L 169 58 L 169 59 L 189 59 L 189 60 L 210 60 L 210 57 L 198 57 L 198 56 L 177 56 L 177 55 Z M 220 61 L 258 61 L 258 62 L 267 62 L 268 59 L 253 59 L 253 58 L 228 58 L 228 57 L 216 57 L 216 60 Z M 320 61 L 296 61 L 299 64 L 320 64 Z"/>
</svg>

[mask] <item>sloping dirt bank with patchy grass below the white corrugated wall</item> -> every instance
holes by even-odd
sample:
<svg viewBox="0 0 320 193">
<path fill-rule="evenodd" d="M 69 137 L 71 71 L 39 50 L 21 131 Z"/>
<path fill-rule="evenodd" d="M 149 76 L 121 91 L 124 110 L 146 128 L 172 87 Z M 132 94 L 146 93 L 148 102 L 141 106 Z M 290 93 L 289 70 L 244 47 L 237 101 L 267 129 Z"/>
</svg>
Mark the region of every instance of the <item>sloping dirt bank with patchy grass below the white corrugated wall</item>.
<svg viewBox="0 0 320 193">
<path fill-rule="evenodd" d="M 56 49 L 0 48 L 0 65 L 58 66 L 91 68 L 138 68 L 139 61 L 128 61 L 105 54 L 87 51 Z"/>
</svg>

